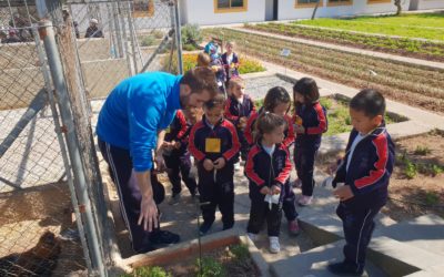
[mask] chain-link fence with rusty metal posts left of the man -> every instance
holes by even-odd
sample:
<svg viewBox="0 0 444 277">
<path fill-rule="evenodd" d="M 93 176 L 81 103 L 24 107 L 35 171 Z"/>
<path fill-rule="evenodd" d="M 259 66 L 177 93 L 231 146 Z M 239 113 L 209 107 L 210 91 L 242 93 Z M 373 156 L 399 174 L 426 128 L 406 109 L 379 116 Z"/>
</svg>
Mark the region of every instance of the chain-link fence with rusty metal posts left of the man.
<svg viewBox="0 0 444 277">
<path fill-rule="evenodd" d="M 0 1 L 0 276 L 108 275 L 90 100 L 176 66 L 173 3 Z"/>
</svg>

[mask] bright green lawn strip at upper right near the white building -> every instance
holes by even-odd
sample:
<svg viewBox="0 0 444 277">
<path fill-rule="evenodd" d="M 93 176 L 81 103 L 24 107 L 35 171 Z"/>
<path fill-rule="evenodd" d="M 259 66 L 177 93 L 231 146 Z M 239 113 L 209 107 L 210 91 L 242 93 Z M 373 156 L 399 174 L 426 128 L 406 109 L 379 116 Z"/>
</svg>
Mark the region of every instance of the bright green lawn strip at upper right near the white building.
<svg viewBox="0 0 444 277">
<path fill-rule="evenodd" d="M 295 24 L 444 41 L 444 13 L 301 20 Z"/>
</svg>

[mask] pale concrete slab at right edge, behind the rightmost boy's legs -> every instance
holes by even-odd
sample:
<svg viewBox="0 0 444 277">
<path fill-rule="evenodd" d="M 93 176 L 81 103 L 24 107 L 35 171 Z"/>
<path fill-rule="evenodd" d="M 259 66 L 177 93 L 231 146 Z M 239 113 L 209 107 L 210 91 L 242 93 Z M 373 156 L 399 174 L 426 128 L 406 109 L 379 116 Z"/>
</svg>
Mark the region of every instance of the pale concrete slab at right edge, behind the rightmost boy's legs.
<svg viewBox="0 0 444 277">
<path fill-rule="evenodd" d="M 423 215 L 375 230 L 395 240 L 444 256 L 444 219 L 437 215 Z"/>
</svg>

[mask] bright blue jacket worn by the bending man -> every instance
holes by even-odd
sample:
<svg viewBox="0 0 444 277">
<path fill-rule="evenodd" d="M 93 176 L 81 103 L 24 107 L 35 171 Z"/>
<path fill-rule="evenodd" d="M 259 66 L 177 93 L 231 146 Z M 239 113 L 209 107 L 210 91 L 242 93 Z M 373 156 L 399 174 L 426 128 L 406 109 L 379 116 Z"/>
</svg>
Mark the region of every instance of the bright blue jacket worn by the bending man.
<svg viewBox="0 0 444 277">
<path fill-rule="evenodd" d="M 137 172 L 152 168 L 158 131 L 167 129 L 180 105 L 180 81 L 164 72 L 142 73 L 122 81 L 107 98 L 97 134 L 130 151 Z"/>
</svg>

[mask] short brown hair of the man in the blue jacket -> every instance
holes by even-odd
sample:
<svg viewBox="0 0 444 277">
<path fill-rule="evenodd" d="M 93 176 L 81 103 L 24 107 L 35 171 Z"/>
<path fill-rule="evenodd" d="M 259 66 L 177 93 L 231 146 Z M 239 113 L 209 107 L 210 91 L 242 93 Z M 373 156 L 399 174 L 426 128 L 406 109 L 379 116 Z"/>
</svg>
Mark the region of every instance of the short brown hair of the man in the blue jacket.
<svg viewBox="0 0 444 277">
<path fill-rule="evenodd" d="M 211 98 L 214 98 L 219 93 L 215 75 L 209 68 L 195 68 L 186 71 L 181 80 L 181 84 L 190 86 L 191 93 L 201 93 L 206 90 L 211 94 Z"/>
</svg>

